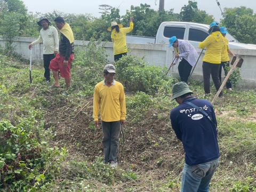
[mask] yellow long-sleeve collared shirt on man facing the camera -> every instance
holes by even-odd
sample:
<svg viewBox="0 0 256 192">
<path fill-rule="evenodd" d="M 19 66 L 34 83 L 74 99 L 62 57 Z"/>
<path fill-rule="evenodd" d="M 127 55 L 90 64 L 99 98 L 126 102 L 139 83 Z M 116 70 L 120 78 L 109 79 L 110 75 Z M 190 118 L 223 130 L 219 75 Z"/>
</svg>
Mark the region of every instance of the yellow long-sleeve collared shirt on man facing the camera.
<svg viewBox="0 0 256 192">
<path fill-rule="evenodd" d="M 120 121 L 126 117 L 126 105 L 124 86 L 114 81 L 111 86 L 107 86 L 105 81 L 98 83 L 94 88 L 93 95 L 93 118 L 105 122 Z"/>
</svg>

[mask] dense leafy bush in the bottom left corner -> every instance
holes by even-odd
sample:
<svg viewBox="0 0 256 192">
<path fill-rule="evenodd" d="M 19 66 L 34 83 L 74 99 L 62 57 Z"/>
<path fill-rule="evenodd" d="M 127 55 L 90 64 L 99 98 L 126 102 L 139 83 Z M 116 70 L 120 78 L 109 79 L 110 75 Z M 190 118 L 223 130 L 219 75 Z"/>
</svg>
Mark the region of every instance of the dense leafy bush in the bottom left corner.
<svg viewBox="0 0 256 192">
<path fill-rule="evenodd" d="M 47 142 L 39 141 L 39 129 L 43 124 L 39 123 L 34 129 L 38 124 L 35 113 L 29 118 L 20 118 L 16 126 L 7 120 L 0 121 L 0 189 L 36 189 L 51 177 L 51 171 L 46 172 L 49 161 L 56 163 L 57 154 L 66 154 L 66 149 L 60 152 L 58 148 L 46 147 Z M 51 169 L 57 170 L 53 166 Z"/>
</svg>

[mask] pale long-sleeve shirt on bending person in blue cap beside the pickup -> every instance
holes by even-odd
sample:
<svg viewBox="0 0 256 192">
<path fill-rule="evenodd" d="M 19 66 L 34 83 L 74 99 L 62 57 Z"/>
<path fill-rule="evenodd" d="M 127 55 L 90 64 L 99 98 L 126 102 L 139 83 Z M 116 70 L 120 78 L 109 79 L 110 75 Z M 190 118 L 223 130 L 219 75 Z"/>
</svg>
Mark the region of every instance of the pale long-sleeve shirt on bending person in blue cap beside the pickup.
<svg viewBox="0 0 256 192">
<path fill-rule="evenodd" d="M 191 66 L 195 66 L 198 59 L 198 53 L 193 45 L 186 40 L 178 40 L 178 50 L 180 59 L 186 59 Z M 176 58 L 173 63 L 177 63 L 179 58 Z"/>
</svg>

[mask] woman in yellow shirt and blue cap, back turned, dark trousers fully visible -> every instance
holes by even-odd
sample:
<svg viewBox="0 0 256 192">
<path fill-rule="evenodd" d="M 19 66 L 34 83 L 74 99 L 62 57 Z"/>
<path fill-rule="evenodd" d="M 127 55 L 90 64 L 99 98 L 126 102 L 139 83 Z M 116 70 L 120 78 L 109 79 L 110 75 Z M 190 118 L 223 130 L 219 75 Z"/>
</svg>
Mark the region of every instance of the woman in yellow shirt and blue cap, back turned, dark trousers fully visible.
<svg viewBox="0 0 256 192">
<path fill-rule="evenodd" d="M 212 22 L 209 29 L 210 35 L 199 43 L 199 48 L 206 49 L 203 58 L 203 78 L 205 95 L 210 94 L 210 76 L 216 90 L 220 88 L 219 67 L 221 63 L 221 50 L 224 45 L 224 38 L 220 33 L 217 22 Z M 219 94 L 221 97 L 222 92 Z"/>
</svg>

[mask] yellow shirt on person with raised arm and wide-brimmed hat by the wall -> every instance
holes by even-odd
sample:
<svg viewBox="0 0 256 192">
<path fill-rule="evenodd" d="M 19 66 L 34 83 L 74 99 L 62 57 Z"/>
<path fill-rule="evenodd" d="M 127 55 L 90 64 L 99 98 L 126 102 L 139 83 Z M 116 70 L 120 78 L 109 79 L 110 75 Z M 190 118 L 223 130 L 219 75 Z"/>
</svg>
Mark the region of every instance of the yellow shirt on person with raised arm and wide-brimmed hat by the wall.
<svg viewBox="0 0 256 192">
<path fill-rule="evenodd" d="M 120 28 L 119 33 L 116 32 L 116 29 L 111 31 L 111 39 L 113 42 L 114 55 L 127 53 L 126 45 L 126 34 L 130 33 L 133 29 L 133 22 L 130 22 L 129 27 Z"/>
</svg>

